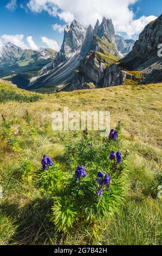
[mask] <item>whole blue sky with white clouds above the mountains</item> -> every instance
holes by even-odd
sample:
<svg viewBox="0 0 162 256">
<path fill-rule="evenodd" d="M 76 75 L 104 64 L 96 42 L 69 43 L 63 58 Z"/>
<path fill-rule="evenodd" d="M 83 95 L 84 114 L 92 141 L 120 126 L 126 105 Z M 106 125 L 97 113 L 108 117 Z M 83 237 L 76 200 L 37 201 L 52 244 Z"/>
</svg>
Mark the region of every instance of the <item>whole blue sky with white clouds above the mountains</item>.
<svg viewBox="0 0 162 256">
<path fill-rule="evenodd" d="M 10 39 L 34 50 L 42 46 L 59 50 L 64 25 L 75 18 L 84 26 L 94 26 L 102 16 L 112 18 L 117 33 L 137 39 L 160 10 L 161 0 L 77 0 L 77 4 L 74 0 L 0 0 L 0 47 Z"/>
</svg>

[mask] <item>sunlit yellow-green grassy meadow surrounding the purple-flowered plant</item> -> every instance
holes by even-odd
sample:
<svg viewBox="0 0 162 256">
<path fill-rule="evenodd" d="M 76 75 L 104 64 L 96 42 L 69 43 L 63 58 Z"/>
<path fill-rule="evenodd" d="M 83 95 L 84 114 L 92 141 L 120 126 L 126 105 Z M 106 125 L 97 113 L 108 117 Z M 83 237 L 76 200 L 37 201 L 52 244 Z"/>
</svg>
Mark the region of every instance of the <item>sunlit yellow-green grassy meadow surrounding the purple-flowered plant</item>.
<svg viewBox="0 0 162 256">
<path fill-rule="evenodd" d="M 8 96 L 10 92 L 23 100 Z M 44 94 L 41 100 L 27 102 L 26 97 L 34 95 L 0 83 L 0 244 L 161 245 L 162 206 L 157 187 L 162 185 L 162 84 Z M 76 225 L 66 235 L 56 232 L 49 222 L 51 200 L 35 181 L 42 156 L 64 164 L 64 145 L 69 138 L 80 136 L 80 132 L 51 130 L 51 113 L 64 106 L 75 111 L 110 111 L 111 127 L 121 120 L 122 150 L 129 150 L 126 200 L 120 214 L 97 230 Z"/>
</svg>

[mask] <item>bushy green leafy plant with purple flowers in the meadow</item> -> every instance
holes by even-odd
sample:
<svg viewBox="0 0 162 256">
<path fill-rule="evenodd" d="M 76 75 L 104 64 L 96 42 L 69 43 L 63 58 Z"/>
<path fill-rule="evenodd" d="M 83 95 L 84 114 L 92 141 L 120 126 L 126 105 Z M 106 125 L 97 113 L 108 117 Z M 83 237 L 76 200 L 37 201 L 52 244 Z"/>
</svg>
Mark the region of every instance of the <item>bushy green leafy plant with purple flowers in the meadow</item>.
<svg viewBox="0 0 162 256">
<path fill-rule="evenodd" d="M 117 130 L 119 134 L 120 125 Z M 39 175 L 41 191 L 54 199 L 50 220 L 58 231 L 67 233 L 76 223 L 101 223 L 120 211 L 127 153 L 121 159 L 119 139 L 114 134 L 110 139 L 83 132 L 79 141 L 74 138 L 66 146 L 66 175 L 58 164 Z"/>
</svg>

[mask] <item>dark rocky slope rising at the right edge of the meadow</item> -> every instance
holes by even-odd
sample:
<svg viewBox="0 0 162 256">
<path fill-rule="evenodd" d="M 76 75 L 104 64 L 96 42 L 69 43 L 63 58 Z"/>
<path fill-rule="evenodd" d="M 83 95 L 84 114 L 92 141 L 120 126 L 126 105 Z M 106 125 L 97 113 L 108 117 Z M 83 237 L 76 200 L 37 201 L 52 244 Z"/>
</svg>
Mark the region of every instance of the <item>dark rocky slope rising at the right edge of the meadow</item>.
<svg viewBox="0 0 162 256">
<path fill-rule="evenodd" d="M 133 50 L 120 61 L 122 68 L 139 70 L 145 74 L 145 83 L 162 81 L 162 58 L 158 45 L 162 42 L 162 15 L 150 22 L 139 35 Z"/>
</svg>

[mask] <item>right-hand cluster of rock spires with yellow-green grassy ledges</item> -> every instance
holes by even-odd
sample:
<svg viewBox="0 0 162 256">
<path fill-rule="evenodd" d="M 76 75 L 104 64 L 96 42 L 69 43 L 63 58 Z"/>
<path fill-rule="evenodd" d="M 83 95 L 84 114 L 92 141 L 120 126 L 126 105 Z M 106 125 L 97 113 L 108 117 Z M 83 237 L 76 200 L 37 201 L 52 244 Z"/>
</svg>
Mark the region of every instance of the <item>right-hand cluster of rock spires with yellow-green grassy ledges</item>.
<svg viewBox="0 0 162 256">
<path fill-rule="evenodd" d="M 86 57 L 73 78 L 71 88 L 85 89 L 89 83 L 96 88 L 103 87 L 107 67 L 120 59 L 112 20 L 103 18 L 101 25 L 98 20 L 94 30 L 92 26 L 88 27 L 81 56 Z"/>
</svg>

